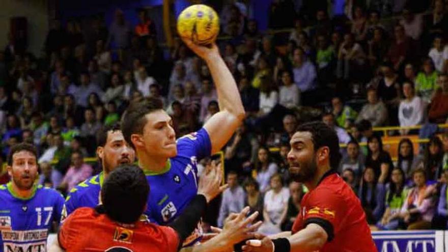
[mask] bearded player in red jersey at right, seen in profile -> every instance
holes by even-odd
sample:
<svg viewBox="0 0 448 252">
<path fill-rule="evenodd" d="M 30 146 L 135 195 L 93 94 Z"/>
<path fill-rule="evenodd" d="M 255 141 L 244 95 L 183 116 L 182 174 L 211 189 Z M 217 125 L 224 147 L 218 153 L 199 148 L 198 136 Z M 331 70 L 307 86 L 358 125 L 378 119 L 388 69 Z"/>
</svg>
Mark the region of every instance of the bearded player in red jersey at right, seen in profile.
<svg viewBox="0 0 448 252">
<path fill-rule="evenodd" d="M 337 134 L 322 122 L 306 123 L 298 127 L 290 144 L 291 178 L 309 189 L 301 201 L 300 213 L 291 232 L 264 237 L 261 245 L 247 241 L 243 250 L 377 251 L 361 203 L 335 172 L 340 161 Z"/>
</svg>

